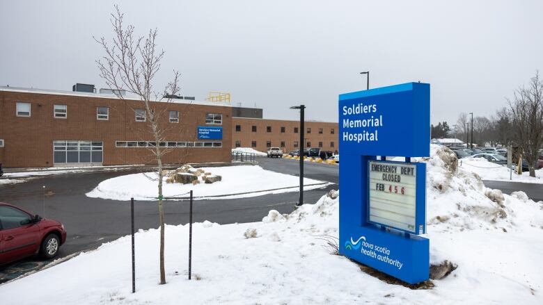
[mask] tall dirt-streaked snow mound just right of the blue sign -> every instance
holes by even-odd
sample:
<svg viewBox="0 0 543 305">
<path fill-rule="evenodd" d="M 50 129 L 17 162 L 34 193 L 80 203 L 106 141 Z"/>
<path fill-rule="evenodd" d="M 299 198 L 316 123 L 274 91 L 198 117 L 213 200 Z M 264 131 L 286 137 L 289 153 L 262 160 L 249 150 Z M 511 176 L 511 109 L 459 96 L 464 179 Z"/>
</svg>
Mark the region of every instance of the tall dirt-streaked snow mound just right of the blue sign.
<svg viewBox="0 0 543 305">
<path fill-rule="evenodd" d="M 455 153 L 432 145 L 427 163 L 427 222 L 440 230 L 501 229 L 543 225 L 542 204 L 486 188 L 480 176 L 457 167 Z M 521 198 L 521 199 L 519 199 Z"/>
</svg>

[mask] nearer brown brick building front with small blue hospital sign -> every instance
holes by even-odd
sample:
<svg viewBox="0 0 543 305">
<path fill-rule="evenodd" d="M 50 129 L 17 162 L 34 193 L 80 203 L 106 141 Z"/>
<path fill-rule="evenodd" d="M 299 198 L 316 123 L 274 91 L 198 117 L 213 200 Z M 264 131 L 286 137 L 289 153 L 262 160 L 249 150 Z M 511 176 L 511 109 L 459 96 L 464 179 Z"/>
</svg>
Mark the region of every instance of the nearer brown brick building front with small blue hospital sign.
<svg viewBox="0 0 543 305">
<path fill-rule="evenodd" d="M 232 108 L 197 101 L 152 102 L 168 149 L 163 163 L 230 162 Z M 198 127 L 200 126 L 200 127 Z M 221 138 L 200 138 L 203 127 Z M 142 101 L 111 94 L 0 87 L 4 167 L 156 164 Z"/>
</svg>

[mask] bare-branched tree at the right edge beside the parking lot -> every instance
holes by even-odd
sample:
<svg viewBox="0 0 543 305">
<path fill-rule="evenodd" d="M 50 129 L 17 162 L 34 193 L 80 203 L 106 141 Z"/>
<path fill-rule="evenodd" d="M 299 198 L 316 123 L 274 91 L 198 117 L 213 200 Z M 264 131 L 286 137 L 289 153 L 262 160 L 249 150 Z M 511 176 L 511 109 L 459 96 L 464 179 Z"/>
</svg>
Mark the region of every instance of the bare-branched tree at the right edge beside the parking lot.
<svg viewBox="0 0 543 305">
<path fill-rule="evenodd" d="M 543 82 L 539 72 L 530 79 L 528 88 L 515 90 L 514 99 L 508 101 L 521 154 L 528 162 L 530 176 L 535 177 L 535 163 L 543 142 Z"/>
</svg>

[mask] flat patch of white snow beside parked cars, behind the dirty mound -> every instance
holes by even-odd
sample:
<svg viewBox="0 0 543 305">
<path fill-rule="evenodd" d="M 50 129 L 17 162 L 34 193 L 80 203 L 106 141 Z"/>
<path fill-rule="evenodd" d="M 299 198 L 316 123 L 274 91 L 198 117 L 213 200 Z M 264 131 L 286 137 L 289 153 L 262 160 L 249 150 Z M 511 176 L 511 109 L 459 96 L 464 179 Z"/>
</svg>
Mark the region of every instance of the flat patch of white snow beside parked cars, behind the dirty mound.
<svg viewBox="0 0 543 305">
<path fill-rule="evenodd" d="M 462 158 L 458 160 L 459 167 L 468 172 L 478 174 L 483 180 L 492 181 L 514 181 L 523 183 L 543 183 L 543 169 L 535 171 L 535 178 L 530 177 L 529 172 L 523 172 L 521 175 L 510 170 L 505 165 L 491 163 L 485 158 Z M 511 176 L 511 180 L 509 179 Z"/>
</svg>

